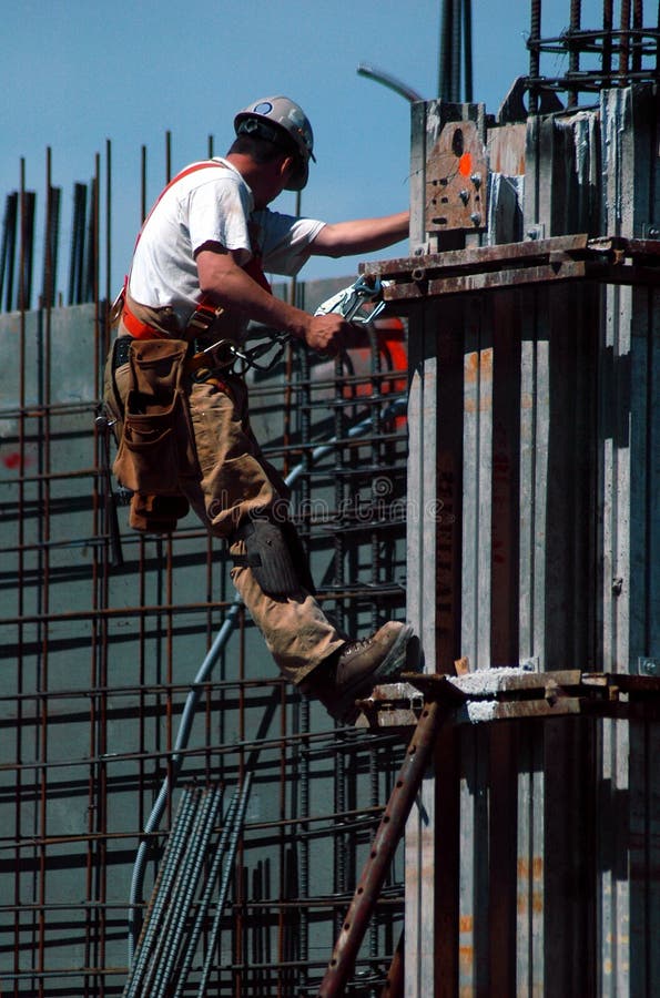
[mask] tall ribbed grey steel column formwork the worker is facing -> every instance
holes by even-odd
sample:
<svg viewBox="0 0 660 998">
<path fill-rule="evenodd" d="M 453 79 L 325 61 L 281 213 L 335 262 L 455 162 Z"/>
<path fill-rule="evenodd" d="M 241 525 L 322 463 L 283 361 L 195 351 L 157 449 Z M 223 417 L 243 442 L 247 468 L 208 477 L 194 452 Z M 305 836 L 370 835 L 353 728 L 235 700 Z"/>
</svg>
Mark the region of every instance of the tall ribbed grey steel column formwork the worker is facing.
<svg viewBox="0 0 660 998">
<path fill-rule="evenodd" d="M 408 520 L 409 578 L 424 583 L 409 607 L 426 669 L 450 672 L 460 658 L 470 669 L 652 669 L 656 90 L 530 115 L 524 184 L 489 187 L 495 202 L 498 191 L 507 200 L 517 192 L 517 237 L 535 237 L 508 246 L 493 233 L 479 246 L 471 230 L 460 246 L 456 233 L 438 237 L 426 225 L 428 151 L 445 123 L 461 119 L 484 115 L 415 105 L 412 256 L 363 266 L 367 278 L 392 281 L 386 296 L 409 317 L 409 493 L 437 497 L 447 454 L 460 482 L 446 543 L 445 571 L 461 580 L 448 645 L 438 642 L 447 608 L 427 560 L 438 528 Z M 484 145 L 514 161 L 497 131 L 484 131 Z M 519 133 L 511 136 L 518 149 Z M 497 203 L 489 216 L 506 232 Z M 409 821 L 407 998 L 652 990 L 657 739 L 651 721 L 560 719 L 542 731 L 528 722 L 506 735 L 460 735 L 458 772 L 438 761 Z M 443 802 L 457 838 L 447 835 Z"/>
</svg>

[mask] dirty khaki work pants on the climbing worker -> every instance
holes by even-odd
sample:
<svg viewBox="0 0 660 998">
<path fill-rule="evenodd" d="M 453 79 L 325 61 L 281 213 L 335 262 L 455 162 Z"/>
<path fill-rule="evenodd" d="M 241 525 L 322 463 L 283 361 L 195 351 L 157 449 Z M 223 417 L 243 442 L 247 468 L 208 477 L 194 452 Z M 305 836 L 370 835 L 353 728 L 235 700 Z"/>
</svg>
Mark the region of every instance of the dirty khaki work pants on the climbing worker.
<svg viewBox="0 0 660 998">
<path fill-rule="evenodd" d="M 202 380 L 201 374 L 190 381 L 187 398 L 201 475 L 199 480 L 183 477 L 180 486 L 207 530 L 227 540 L 242 518 L 285 502 L 288 490 L 250 428 L 243 378 L 219 375 Z M 109 358 L 105 405 L 120 425 L 120 404 L 125 405 L 130 381 L 130 365 L 118 367 L 113 379 Z M 244 553 L 243 542 L 232 543 L 230 550 Z M 344 643 L 345 638 L 311 593 L 273 599 L 263 592 L 248 567 L 236 566 L 231 576 L 278 669 L 295 685 Z"/>
</svg>

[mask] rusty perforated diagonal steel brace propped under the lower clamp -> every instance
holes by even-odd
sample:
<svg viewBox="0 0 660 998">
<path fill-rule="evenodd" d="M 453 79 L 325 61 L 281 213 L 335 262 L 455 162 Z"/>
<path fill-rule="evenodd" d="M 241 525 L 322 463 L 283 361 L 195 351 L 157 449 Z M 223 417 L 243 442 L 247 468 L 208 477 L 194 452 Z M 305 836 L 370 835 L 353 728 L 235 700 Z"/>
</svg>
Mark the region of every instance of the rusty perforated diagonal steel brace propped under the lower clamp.
<svg viewBox="0 0 660 998">
<path fill-rule="evenodd" d="M 344 994 L 355 959 L 376 907 L 380 887 L 396 852 L 417 791 L 424 778 L 438 731 L 451 707 L 437 701 L 426 702 L 415 734 L 406 750 L 395 787 L 376 832 L 369 858 L 335 943 L 332 959 L 321 982 L 317 998 Z"/>
</svg>

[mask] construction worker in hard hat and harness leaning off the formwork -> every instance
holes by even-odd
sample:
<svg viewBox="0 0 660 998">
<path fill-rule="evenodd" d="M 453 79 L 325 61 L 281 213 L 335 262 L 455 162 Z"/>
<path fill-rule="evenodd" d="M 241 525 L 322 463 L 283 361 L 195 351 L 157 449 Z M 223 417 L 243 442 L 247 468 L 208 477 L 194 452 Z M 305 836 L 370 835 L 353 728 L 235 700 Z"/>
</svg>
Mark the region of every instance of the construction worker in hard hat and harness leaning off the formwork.
<svg viewBox="0 0 660 998">
<path fill-rule="evenodd" d="M 226 343 L 240 344 L 254 320 L 335 355 L 352 327 L 274 297 L 264 271 L 292 276 L 312 255 L 388 246 L 407 235 L 408 213 L 324 224 L 272 212 L 283 190 L 307 183 L 309 122 L 293 101 L 271 96 L 241 111 L 234 130 L 224 159 L 174 177 L 138 237 L 106 368 L 120 439 L 114 471 L 134 492 L 134 527 L 171 529 L 190 503 L 229 542 L 234 585 L 282 673 L 348 720 L 356 695 L 404 663 L 410 629 L 389 621 L 351 640 L 323 613 L 287 488 L 252 435 L 245 381 L 227 364 Z"/>
</svg>

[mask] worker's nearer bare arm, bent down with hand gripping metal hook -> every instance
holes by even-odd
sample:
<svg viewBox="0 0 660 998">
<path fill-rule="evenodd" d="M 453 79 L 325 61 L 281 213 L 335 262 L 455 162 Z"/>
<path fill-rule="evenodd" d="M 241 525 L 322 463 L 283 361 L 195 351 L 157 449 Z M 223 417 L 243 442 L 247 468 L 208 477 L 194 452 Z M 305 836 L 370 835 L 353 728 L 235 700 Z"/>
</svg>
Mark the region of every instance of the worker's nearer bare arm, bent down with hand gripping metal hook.
<svg viewBox="0 0 660 998">
<path fill-rule="evenodd" d="M 339 316 L 313 316 L 264 291 L 219 243 L 205 243 L 196 255 L 204 296 L 227 309 L 240 309 L 257 323 L 291 333 L 314 350 L 336 353 L 351 336 Z"/>
</svg>

